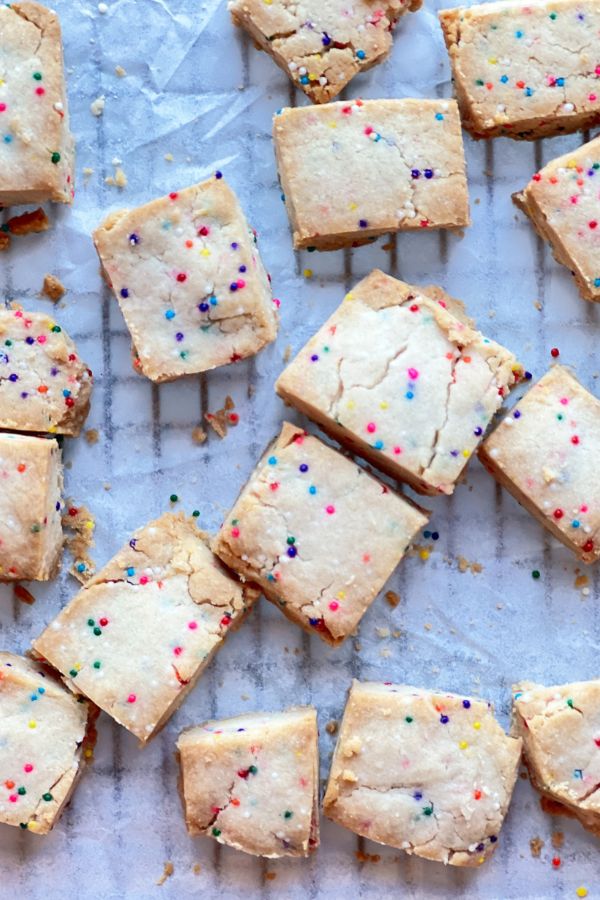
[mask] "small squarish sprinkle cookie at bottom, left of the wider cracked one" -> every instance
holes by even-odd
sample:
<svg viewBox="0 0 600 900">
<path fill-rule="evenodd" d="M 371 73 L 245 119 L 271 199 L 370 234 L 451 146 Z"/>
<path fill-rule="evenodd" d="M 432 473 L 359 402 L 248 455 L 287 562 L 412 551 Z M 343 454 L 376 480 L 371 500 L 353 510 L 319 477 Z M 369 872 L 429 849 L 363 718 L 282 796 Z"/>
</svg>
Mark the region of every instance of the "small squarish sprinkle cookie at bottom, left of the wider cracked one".
<svg viewBox="0 0 600 900">
<path fill-rule="evenodd" d="M 177 741 L 190 834 L 256 856 L 308 856 L 319 843 L 312 707 L 210 721 Z"/>
</svg>

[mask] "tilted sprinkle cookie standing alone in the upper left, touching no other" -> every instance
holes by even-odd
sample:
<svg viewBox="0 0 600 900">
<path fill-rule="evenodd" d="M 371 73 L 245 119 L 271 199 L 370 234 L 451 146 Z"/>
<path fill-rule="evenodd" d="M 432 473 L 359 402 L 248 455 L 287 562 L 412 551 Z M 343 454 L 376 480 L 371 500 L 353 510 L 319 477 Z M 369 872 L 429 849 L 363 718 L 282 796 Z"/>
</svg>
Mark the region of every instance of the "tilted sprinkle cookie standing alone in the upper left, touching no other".
<svg viewBox="0 0 600 900">
<path fill-rule="evenodd" d="M 278 301 L 233 191 L 214 178 L 113 213 L 94 242 L 153 381 L 204 372 L 277 335 Z"/>
</svg>

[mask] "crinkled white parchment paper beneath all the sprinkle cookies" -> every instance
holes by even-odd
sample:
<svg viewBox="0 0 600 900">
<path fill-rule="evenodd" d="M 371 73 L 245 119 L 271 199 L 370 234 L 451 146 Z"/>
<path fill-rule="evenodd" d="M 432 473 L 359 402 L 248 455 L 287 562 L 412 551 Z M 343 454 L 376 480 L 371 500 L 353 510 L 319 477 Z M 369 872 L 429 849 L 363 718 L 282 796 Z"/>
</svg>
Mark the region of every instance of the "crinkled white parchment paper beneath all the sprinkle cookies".
<svg viewBox="0 0 600 900">
<path fill-rule="evenodd" d="M 475 143 L 465 136 L 473 224 L 462 238 L 420 232 L 399 236 L 391 250 L 384 249 L 383 239 L 354 252 L 294 254 L 270 126 L 276 109 L 305 100 L 234 30 L 225 4 L 117 0 L 105 14 L 82 0 L 58 0 L 56 6 L 77 136 L 77 196 L 72 209 L 51 211 L 51 231 L 15 240 L 0 258 L 0 291 L 7 301 L 49 311 L 48 301 L 38 297 L 44 273 L 58 275 L 68 288 L 57 317 L 95 372 L 88 427 L 99 430 L 100 441 L 93 447 L 83 438 L 66 441 L 67 494 L 97 516 L 99 563 L 132 529 L 169 508 L 171 493 L 181 497 L 179 507 L 201 510 L 202 525 L 219 525 L 278 430 L 284 410 L 273 382 L 286 347 L 299 349 L 345 290 L 374 266 L 409 282 L 443 285 L 535 376 L 549 364 L 550 348 L 559 346 L 561 361 L 595 389 L 598 311 L 578 298 L 568 272 L 554 263 L 510 200 L 543 162 L 578 146 L 581 135 L 536 144 L 504 138 Z M 434 6 L 432 0 L 406 17 L 390 59 L 355 79 L 346 96 L 450 94 Z M 115 75 L 117 65 L 127 77 Z M 94 118 L 90 103 L 100 95 L 106 97 L 105 111 Z M 169 153 L 172 162 L 165 160 Z M 115 158 L 129 179 L 123 192 L 104 183 Z M 88 179 L 84 167 L 94 169 Z M 279 339 L 254 359 L 156 388 L 131 369 L 128 335 L 99 277 L 90 232 L 108 210 L 185 187 L 216 168 L 258 229 L 282 303 Z M 383 171 L 382 191 L 385 179 Z M 305 268 L 313 270 L 312 278 L 303 276 Z M 213 435 L 196 446 L 192 427 L 228 393 L 240 413 L 239 426 L 222 442 Z M 591 481 L 597 478 L 590 472 Z M 102 716 L 95 761 L 55 831 L 40 838 L 0 829 L 0 897 L 487 900 L 569 898 L 580 885 L 596 896 L 597 839 L 567 820 L 544 816 L 522 780 L 494 858 L 476 871 L 410 858 L 327 822 L 321 849 L 308 861 L 263 862 L 185 832 L 174 744 L 181 728 L 204 718 L 314 703 L 325 777 L 334 738 L 324 725 L 340 718 L 353 676 L 480 694 L 495 703 L 508 725 L 514 680 L 558 683 L 600 674 L 597 570 L 587 570 L 591 590 L 585 597 L 574 587 L 573 557 L 476 460 L 455 495 L 430 507 L 430 527 L 440 534 L 434 552 L 427 562 L 408 559 L 393 576 L 389 587 L 402 603 L 394 610 L 383 598 L 373 604 L 360 628 L 360 650 L 352 640 L 331 649 L 261 601 L 147 749 L 139 750 L 131 735 Z M 461 554 L 481 563 L 483 571 L 461 573 Z M 542 573 L 539 581 L 531 577 L 534 568 Z M 74 594 L 76 583 L 65 572 L 48 586 L 30 587 L 37 598 L 31 607 L 15 601 L 10 588 L 0 588 L 5 649 L 25 650 Z M 382 639 L 378 628 L 401 636 Z M 557 828 L 565 832 L 565 846 L 554 871 L 549 839 Z M 546 842 L 539 859 L 529 851 L 536 836 Z M 361 863 L 359 849 L 380 854 L 379 862 Z M 157 887 L 166 860 L 175 871 Z M 197 863 L 201 871 L 194 874 Z"/>
</svg>

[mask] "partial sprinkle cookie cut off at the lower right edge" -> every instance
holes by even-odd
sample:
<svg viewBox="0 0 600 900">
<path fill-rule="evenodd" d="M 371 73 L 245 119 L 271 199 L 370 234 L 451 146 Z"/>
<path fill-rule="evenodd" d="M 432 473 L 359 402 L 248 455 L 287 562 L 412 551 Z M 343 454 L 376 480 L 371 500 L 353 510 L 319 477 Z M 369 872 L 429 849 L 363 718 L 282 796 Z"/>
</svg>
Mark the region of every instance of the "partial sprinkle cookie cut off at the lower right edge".
<svg viewBox="0 0 600 900">
<path fill-rule="evenodd" d="M 542 806 L 600 836 L 600 681 L 518 684 L 513 720 Z"/>
</svg>

